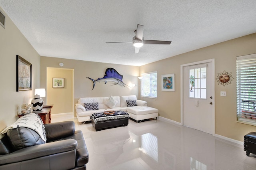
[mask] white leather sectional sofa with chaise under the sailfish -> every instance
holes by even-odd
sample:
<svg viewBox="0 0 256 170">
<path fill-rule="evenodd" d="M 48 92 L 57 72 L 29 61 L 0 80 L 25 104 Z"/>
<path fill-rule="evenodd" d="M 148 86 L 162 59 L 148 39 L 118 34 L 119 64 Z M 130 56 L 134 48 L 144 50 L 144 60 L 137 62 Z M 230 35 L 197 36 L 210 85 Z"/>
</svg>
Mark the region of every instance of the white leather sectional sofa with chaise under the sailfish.
<svg viewBox="0 0 256 170">
<path fill-rule="evenodd" d="M 113 99 L 114 98 L 114 99 Z M 111 102 L 110 102 L 111 99 Z M 113 101 L 114 100 L 114 101 Z M 137 106 L 127 106 L 126 101 L 136 101 Z M 116 102 L 113 104 L 113 102 Z M 86 110 L 85 103 L 98 103 L 96 110 Z M 115 105 L 113 107 L 113 105 Z M 110 108 L 110 107 L 111 108 Z M 86 106 L 87 107 L 87 106 Z M 94 108 L 95 109 L 95 108 Z M 148 107 L 146 101 L 137 100 L 136 95 L 113 96 L 113 97 L 84 97 L 78 99 L 76 103 L 76 117 L 78 122 L 90 121 L 90 115 L 93 113 L 102 113 L 107 111 L 126 111 L 130 118 L 137 121 L 144 119 L 157 118 L 158 109 Z"/>
</svg>

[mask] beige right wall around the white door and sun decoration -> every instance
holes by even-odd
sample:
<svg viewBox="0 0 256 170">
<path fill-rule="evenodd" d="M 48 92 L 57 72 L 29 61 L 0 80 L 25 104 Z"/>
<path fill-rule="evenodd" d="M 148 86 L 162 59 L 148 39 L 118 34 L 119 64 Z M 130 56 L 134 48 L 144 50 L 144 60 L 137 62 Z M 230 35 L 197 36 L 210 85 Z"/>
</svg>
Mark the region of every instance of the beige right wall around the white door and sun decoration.
<svg viewBox="0 0 256 170">
<path fill-rule="evenodd" d="M 180 65 L 215 59 L 215 78 L 224 70 L 232 72 L 232 77 L 235 78 L 231 85 L 225 87 L 218 85 L 215 80 L 215 132 L 221 136 L 243 141 L 243 136 L 250 131 L 256 131 L 256 127 L 236 122 L 236 56 L 252 53 L 256 53 L 256 34 L 143 65 L 140 67 L 140 73 L 157 71 L 158 97 L 157 99 L 142 97 L 142 99 L 148 101 L 148 105 L 158 108 L 160 116 L 181 122 Z M 175 73 L 175 92 L 161 91 L 161 75 L 168 73 Z M 226 91 L 226 97 L 221 97 L 220 91 Z"/>
</svg>

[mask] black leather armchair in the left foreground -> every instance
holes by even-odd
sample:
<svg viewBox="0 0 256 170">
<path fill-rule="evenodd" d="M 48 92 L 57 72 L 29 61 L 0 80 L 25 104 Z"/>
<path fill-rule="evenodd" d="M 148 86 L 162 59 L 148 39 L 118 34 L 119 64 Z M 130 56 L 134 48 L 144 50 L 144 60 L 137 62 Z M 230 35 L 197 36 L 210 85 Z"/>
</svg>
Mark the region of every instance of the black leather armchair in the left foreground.
<svg viewBox="0 0 256 170">
<path fill-rule="evenodd" d="M 0 170 L 86 170 L 88 150 L 82 131 L 75 131 L 74 122 L 44 126 L 46 143 L 42 143 L 37 133 L 25 127 L 10 129 L 2 134 Z"/>
</svg>

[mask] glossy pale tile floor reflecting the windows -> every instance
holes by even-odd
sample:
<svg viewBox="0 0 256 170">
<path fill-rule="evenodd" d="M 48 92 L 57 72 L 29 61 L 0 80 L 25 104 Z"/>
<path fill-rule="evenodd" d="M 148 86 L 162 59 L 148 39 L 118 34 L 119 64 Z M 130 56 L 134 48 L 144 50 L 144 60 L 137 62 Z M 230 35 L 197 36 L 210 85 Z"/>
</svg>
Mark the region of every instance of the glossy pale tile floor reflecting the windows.
<svg viewBox="0 0 256 170">
<path fill-rule="evenodd" d="M 256 170 L 256 155 L 210 134 L 150 120 L 96 132 L 91 123 L 73 120 L 89 152 L 87 170 Z"/>
</svg>

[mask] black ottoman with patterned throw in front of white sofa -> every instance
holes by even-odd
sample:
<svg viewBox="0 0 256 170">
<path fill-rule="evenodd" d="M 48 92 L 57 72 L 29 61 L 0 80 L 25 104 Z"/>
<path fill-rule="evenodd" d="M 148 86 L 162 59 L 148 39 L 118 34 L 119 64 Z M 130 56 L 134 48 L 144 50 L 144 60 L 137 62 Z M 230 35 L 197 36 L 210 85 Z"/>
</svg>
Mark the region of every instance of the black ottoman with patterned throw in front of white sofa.
<svg viewBox="0 0 256 170">
<path fill-rule="evenodd" d="M 98 131 L 107 128 L 127 126 L 129 114 L 124 111 L 115 111 L 115 113 L 111 115 L 93 113 L 90 118 L 92 120 L 92 126 Z"/>
</svg>

